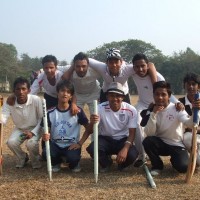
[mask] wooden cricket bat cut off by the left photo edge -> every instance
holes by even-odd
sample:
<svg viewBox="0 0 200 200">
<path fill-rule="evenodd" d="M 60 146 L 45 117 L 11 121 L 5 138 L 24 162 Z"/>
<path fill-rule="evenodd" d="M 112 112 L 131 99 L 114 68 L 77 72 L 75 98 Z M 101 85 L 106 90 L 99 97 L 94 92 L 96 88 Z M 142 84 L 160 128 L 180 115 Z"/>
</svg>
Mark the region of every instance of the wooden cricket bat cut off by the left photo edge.
<svg viewBox="0 0 200 200">
<path fill-rule="evenodd" d="M 0 117 L 2 117 L 3 97 L 0 97 Z M 0 175 L 3 174 L 3 124 L 0 123 Z"/>
</svg>

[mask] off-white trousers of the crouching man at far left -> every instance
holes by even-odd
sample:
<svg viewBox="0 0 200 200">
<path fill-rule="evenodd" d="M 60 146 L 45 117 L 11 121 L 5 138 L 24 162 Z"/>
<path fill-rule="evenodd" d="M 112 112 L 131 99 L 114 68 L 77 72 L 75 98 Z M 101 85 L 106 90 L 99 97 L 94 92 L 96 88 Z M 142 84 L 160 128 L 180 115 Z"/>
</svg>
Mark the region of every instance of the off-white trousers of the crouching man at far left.
<svg viewBox="0 0 200 200">
<path fill-rule="evenodd" d="M 8 147 L 17 158 L 16 167 L 23 167 L 25 164 L 26 153 L 22 150 L 20 145 L 26 142 L 26 148 L 29 152 L 32 167 L 39 168 L 41 166 L 39 161 L 39 140 L 41 138 L 41 133 L 38 133 L 37 136 L 33 136 L 31 139 L 21 140 L 20 136 L 22 133 L 21 130 L 15 128 L 7 141 Z"/>
</svg>

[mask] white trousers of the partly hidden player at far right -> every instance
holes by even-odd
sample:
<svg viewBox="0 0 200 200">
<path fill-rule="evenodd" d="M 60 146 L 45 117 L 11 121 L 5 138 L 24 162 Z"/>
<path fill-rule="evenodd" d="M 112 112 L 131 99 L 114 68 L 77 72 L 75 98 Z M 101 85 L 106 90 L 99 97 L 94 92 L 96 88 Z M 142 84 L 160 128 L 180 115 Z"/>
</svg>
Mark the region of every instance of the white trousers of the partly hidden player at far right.
<svg viewBox="0 0 200 200">
<path fill-rule="evenodd" d="M 183 143 L 188 151 L 192 147 L 192 132 L 186 132 L 183 135 Z M 200 135 L 197 134 L 197 165 L 200 166 Z"/>
</svg>

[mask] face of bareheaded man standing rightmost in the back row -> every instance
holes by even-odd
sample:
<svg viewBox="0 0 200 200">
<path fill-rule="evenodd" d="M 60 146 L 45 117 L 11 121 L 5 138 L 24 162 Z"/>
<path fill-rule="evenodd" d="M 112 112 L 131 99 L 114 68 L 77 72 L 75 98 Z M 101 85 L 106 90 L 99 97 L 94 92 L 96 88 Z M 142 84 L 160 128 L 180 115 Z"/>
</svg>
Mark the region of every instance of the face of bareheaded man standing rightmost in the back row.
<svg viewBox="0 0 200 200">
<path fill-rule="evenodd" d="M 136 60 L 133 63 L 133 69 L 135 70 L 135 73 L 140 77 L 145 77 L 148 72 L 148 65 L 145 62 L 144 59 L 142 60 Z"/>
</svg>

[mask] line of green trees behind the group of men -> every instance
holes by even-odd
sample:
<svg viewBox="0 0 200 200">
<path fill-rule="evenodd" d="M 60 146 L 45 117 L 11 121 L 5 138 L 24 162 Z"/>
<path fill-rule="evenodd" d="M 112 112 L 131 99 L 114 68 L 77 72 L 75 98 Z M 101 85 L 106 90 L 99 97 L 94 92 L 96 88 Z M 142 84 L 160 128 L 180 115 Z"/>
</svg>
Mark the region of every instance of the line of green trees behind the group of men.
<svg viewBox="0 0 200 200">
<path fill-rule="evenodd" d="M 113 47 L 121 51 L 123 59 L 128 63 L 131 63 L 136 53 L 146 54 L 149 61 L 155 64 L 157 71 L 171 83 L 175 94 L 184 93 L 182 80 L 186 73 L 200 74 L 200 55 L 189 47 L 185 51 L 174 52 L 172 56 L 166 56 L 151 43 L 129 39 L 105 43 L 86 53 L 89 57 L 105 62 L 106 49 Z M 25 53 L 18 58 L 17 49 L 13 44 L 0 43 L 0 82 L 4 82 L 7 78 L 12 85 L 13 80 L 18 76 L 29 78 L 31 71 L 42 68 L 41 60 L 42 57 L 31 58 Z M 67 65 L 67 62 L 59 61 L 59 65 Z M 136 87 L 131 78 L 128 83 L 131 94 L 136 94 Z"/>
</svg>

